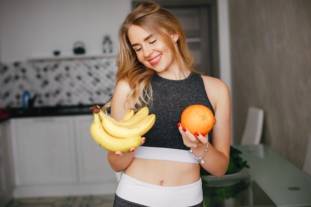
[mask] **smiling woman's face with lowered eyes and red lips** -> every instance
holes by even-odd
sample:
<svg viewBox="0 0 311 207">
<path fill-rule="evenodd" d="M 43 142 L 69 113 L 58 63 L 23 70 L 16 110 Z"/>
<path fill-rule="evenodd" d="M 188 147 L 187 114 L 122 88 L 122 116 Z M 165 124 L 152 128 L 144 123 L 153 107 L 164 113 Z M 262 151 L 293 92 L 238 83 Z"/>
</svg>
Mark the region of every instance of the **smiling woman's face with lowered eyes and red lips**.
<svg viewBox="0 0 311 207">
<path fill-rule="evenodd" d="M 174 38 L 177 36 L 171 35 L 171 37 L 172 42 L 174 42 Z M 128 31 L 128 38 L 138 60 L 147 68 L 154 69 L 157 73 L 178 69 L 178 65 L 169 48 L 163 41 L 156 39 L 143 27 L 131 25 Z"/>
</svg>

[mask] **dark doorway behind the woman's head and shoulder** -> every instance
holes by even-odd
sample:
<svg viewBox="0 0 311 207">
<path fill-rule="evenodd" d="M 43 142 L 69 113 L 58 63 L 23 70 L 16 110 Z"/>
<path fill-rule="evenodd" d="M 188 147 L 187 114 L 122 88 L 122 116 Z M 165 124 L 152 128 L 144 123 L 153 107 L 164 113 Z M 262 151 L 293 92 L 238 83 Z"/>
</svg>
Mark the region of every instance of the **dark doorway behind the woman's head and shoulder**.
<svg viewBox="0 0 311 207">
<path fill-rule="evenodd" d="M 169 9 L 186 33 L 196 70 L 219 78 L 217 0 L 155 0 Z M 134 8 L 141 0 L 133 0 Z"/>
</svg>

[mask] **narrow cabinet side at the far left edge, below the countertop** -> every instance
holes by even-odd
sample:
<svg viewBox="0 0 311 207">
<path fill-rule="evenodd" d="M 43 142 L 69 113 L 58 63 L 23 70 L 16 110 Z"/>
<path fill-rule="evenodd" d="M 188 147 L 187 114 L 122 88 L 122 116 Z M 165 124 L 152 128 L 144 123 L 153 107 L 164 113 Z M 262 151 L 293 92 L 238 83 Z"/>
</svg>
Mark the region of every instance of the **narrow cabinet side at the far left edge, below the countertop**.
<svg viewBox="0 0 311 207">
<path fill-rule="evenodd" d="M 0 123 L 0 207 L 4 207 L 13 197 L 14 177 L 10 122 Z"/>
</svg>

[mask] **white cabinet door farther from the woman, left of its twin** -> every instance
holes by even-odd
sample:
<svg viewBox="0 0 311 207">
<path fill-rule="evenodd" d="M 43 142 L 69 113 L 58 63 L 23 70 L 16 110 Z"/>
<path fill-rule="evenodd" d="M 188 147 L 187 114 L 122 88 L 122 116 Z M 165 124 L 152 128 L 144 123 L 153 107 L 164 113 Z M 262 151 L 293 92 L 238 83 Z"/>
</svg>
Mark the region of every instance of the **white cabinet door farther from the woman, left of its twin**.
<svg viewBox="0 0 311 207">
<path fill-rule="evenodd" d="M 72 117 L 16 119 L 17 186 L 77 182 Z"/>
</svg>

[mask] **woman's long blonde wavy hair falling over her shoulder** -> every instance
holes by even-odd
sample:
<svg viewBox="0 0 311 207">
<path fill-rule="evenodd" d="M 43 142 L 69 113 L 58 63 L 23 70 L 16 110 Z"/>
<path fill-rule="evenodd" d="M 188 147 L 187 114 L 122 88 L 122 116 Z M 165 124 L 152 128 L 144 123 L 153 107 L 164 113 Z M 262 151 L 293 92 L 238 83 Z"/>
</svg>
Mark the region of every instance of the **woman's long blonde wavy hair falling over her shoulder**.
<svg viewBox="0 0 311 207">
<path fill-rule="evenodd" d="M 178 19 L 171 11 L 154 1 L 138 3 L 120 26 L 118 36 L 119 51 L 117 55 L 118 71 L 116 73 L 117 82 L 125 80 L 131 87 L 127 102 L 133 109 L 138 110 L 143 106 L 143 103 L 148 105 L 152 101 L 151 78 L 155 70 L 147 68 L 138 61 L 135 50 L 132 48 L 128 38 L 128 31 L 131 25 L 141 26 L 156 39 L 163 41 L 175 59 L 179 57 L 179 54 L 175 51 L 170 35 L 177 33 L 179 35 L 177 45 L 183 60 L 182 63 L 178 63 L 181 67 L 186 67 L 193 72 L 196 71 L 194 69 L 193 56 L 187 47 L 185 32 Z M 110 106 L 111 102 L 107 103 L 104 108 Z"/>
</svg>

